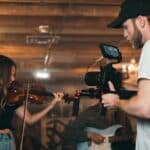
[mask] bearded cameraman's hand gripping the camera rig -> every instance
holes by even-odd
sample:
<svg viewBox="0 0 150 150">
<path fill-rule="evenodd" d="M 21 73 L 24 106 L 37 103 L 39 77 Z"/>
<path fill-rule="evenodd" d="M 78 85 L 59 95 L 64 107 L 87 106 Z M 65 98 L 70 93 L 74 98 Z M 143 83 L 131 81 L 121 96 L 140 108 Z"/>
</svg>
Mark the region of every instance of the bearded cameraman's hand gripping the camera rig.
<svg viewBox="0 0 150 150">
<path fill-rule="evenodd" d="M 109 89 L 112 92 L 115 92 L 114 85 L 112 82 L 108 82 Z M 104 104 L 104 107 L 112 108 L 112 107 L 118 107 L 119 102 L 119 96 L 117 94 L 107 93 L 102 96 L 102 103 Z"/>
</svg>

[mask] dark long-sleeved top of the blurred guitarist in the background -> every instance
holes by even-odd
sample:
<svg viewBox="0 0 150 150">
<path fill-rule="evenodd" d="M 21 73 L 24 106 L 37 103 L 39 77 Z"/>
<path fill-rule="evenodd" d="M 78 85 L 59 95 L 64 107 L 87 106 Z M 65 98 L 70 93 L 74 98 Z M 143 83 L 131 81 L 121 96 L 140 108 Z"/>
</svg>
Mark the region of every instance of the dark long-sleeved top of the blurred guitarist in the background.
<svg viewBox="0 0 150 150">
<path fill-rule="evenodd" d="M 125 117 L 125 120 L 122 122 L 120 120 L 120 117 L 122 117 L 121 114 L 122 113 L 117 110 L 116 112 L 109 114 L 108 116 L 110 117 L 101 116 L 99 104 L 89 107 L 65 127 L 62 137 L 62 150 L 74 150 L 76 149 L 75 147 L 77 143 L 88 141 L 87 131 L 85 131 L 86 127 L 105 129 L 114 124 L 122 124 L 128 130 L 125 134 L 127 135 L 128 133 L 131 133 L 129 120 Z M 132 149 L 129 148 L 129 146 L 124 148 L 128 150 Z M 113 150 L 118 149 L 120 150 L 118 144 L 117 146 L 113 145 Z"/>
</svg>

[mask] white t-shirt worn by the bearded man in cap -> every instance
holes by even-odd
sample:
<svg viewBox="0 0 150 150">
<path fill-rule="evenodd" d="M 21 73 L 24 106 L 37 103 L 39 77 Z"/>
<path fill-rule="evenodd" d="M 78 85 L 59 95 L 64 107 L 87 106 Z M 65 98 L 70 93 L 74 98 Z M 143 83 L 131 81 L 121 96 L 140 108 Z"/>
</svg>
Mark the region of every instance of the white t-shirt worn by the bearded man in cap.
<svg viewBox="0 0 150 150">
<path fill-rule="evenodd" d="M 142 49 L 138 79 L 150 79 L 150 40 L 147 41 Z M 137 140 L 136 150 L 150 150 L 150 119 L 137 120 Z"/>
</svg>

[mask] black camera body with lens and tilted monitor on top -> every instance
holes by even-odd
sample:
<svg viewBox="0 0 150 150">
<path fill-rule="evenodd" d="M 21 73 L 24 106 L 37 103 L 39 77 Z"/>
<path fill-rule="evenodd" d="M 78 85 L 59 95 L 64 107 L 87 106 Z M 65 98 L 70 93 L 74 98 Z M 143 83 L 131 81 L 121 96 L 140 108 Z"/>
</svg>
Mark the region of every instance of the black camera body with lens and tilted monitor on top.
<svg viewBox="0 0 150 150">
<path fill-rule="evenodd" d="M 112 65 L 122 60 L 119 49 L 108 44 L 101 44 L 100 50 L 104 58 L 108 58 L 110 63 L 100 68 L 99 72 L 87 72 L 85 74 L 85 83 L 88 86 L 97 86 L 103 93 L 108 93 L 108 81 L 111 81 L 116 90 L 121 87 L 122 73 L 117 71 Z"/>
</svg>

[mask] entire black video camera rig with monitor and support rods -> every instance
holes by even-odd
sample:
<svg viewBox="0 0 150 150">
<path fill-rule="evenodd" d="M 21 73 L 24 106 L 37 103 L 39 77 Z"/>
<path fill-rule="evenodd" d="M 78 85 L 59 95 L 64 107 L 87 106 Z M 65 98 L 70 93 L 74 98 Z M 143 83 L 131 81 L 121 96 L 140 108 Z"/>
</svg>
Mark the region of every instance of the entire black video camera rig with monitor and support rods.
<svg viewBox="0 0 150 150">
<path fill-rule="evenodd" d="M 113 45 L 100 44 L 100 50 L 103 58 L 108 59 L 106 65 L 100 67 L 98 72 L 87 72 L 85 74 L 85 83 L 88 86 L 96 86 L 81 91 L 81 95 L 86 95 L 91 98 L 101 99 L 104 93 L 117 93 L 121 99 L 128 99 L 136 95 L 136 91 L 126 90 L 122 87 L 123 74 L 113 67 L 113 64 L 119 63 L 122 60 L 122 55 L 119 49 Z M 115 92 L 109 90 L 108 81 L 111 81 L 115 87 Z M 105 108 L 101 108 L 101 114 L 105 114 Z"/>
</svg>

